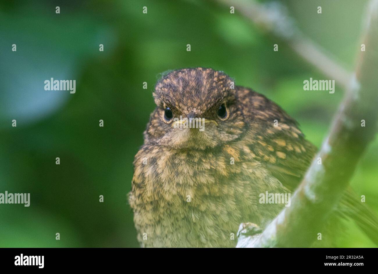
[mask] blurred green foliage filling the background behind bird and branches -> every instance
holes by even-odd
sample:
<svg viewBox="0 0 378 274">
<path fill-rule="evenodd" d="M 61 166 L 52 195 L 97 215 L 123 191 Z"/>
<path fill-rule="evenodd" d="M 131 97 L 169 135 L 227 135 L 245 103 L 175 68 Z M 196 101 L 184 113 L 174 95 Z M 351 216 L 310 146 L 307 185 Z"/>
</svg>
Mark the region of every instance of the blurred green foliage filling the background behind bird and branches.
<svg viewBox="0 0 378 274">
<path fill-rule="evenodd" d="M 282 3 L 308 37 L 353 69 L 366 1 Z M 337 85 L 335 94 L 304 91 L 305 79 L 324 75 L 283 43 L 274 52 L 274 37 L 214 1 L 66 1 L 60 14 L 56 5 L 0 3 L 0 192 L 31 193 L 30 207 L 0 205 L 1 247 L 138 246 L 127 193 L 161 72 L 225 71 L 281 105 L 317 146 L 344 93 Z M 51 77 L 75 79 L 76 93 L 45 91 Z M 352 181 L 376 211 L 377 149 L 375 141 Z M 374 246 L 347 227 L 341 246 Z"/>
</svg>

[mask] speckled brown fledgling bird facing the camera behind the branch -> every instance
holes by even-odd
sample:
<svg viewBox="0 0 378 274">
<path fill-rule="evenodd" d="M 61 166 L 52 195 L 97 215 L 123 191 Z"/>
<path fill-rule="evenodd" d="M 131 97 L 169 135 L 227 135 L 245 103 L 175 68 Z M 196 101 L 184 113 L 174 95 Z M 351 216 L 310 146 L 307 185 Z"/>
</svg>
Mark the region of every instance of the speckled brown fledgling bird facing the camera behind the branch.
<svg viewBox="0 0 378 274">
<path fill-rule="evenodd" d="M 292 193 L 316 154 L 296 120 L 222 71 L 169 71 L 153 98 L 129 193 L 141 247 L 235 247 L 240 223 L 264 228 L 285 206 L 262 195 Z M 374 213 L 348 201 L 335 215 L 377 237 Z"/>
</svg>

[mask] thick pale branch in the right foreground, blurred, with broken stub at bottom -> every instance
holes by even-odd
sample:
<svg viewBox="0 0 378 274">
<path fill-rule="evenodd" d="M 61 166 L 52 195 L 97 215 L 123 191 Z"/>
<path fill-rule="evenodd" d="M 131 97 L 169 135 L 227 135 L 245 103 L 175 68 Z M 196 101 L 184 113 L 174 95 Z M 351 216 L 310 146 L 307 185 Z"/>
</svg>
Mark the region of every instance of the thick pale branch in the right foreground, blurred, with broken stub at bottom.
<svg viewBox="0 0 378 274">
<path fill-rule="evenodd" d="M 256 226 L 240 225 L 237 247 L 310 246 L 338 204 L 358 159 L 377 132 L 378 0 L 370 2 L 366 18 L 366 51 L 359 54 L 356 76 L 349 80 L 330 133 L 296 189 L 291 206 L 262 233 Z M 361 120 L 365 120 L 365 127 Z M 318 165 L 318 157 L 322 165 Z"/>
</svg>

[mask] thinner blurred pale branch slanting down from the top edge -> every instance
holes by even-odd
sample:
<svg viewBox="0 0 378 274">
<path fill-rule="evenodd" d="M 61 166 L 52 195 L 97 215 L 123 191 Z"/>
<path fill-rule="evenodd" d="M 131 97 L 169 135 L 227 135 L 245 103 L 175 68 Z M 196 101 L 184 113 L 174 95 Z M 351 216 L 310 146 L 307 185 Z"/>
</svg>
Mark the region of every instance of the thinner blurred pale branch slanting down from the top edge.
<svg viewBox="0 0 378 274">
<path fill-rule="evenodd" d="M 260 4 L 254 0 L 216 0 L 216 2 L 229 7 L 234 6 L 236 12 L 251 20 L 259 29 L 285 41 L 308 63 L 319 69 L 330 80 L 335 80 L 344 90 L 347 89 L 351 73 L 330 58 L 330 54 L 325 54 L 321 46 L 306 38 L 280 3 Z"/>
</svg>

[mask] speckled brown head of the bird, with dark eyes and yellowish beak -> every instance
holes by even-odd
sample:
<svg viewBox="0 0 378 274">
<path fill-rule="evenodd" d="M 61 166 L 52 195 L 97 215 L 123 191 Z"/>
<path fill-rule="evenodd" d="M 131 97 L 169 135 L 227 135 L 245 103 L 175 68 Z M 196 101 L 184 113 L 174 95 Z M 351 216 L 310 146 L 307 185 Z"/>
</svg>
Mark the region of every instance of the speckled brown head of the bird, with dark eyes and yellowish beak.
<svg viewBox="0 0 378 274">
<path fill-rule="evenodd" d="M 237 139 L 245 126 L 234 83 L 210 68 L 172 71 L 153 92 L 149 142 L 174 149 L 207 149 Z"/>
</svg>

